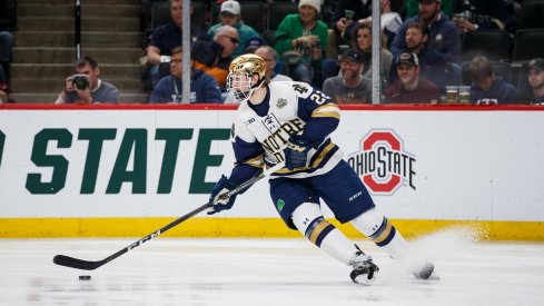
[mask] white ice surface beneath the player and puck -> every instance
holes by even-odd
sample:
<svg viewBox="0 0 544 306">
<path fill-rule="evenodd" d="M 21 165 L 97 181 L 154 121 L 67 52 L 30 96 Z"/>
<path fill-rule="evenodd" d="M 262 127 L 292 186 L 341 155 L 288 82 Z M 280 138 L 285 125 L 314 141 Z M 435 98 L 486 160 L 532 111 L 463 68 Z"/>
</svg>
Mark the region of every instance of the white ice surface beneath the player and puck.
<svg viewBox="0 0 544 306">
<path fill-rule="evenodd" d="M 544 305 L 544 244 L 482 243 L 461 230 L 412 240 L 439 280 L 358 240 L 380 267 L 373 286 L 304 239 L 157 238 L 86 272 L 57 254 L 99 260 L 137 239 L 1 239 L 1 305 Z M 91 280 L 79 280 L 90 275 Z"/>
</svg>

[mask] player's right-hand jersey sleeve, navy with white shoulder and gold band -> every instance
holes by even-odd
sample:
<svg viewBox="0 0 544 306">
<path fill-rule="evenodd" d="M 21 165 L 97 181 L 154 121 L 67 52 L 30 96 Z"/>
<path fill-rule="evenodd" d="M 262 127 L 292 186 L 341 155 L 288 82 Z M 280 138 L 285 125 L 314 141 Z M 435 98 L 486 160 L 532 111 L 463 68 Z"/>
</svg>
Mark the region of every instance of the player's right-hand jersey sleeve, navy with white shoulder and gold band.
<svg viewBox="0 0 544 306">
<path fill-rule="evenodd" d="M 338 127 L 338 106 L 325 92 L 308 83 L 295 82 L 293 88 L 298 96 L 297 116 L 306 121 L 301 138 L 317 147 Z"/>
</svg>

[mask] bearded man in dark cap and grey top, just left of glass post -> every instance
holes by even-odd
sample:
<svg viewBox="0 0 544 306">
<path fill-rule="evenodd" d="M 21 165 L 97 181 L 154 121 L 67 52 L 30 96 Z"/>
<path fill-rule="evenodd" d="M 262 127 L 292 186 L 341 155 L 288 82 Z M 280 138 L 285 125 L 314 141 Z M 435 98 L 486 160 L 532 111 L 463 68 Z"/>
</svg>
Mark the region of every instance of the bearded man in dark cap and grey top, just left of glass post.
<svg viewBox="0 0 544 306">
<path fill-rule="evenodd" d="M 340 76 L 330 77 L 323 83 L 323 91 L 336 103 L 372 103 L 372 81 L 363 77 L 363 53 L 353 48 L 340 58 Z"/>
</svg>

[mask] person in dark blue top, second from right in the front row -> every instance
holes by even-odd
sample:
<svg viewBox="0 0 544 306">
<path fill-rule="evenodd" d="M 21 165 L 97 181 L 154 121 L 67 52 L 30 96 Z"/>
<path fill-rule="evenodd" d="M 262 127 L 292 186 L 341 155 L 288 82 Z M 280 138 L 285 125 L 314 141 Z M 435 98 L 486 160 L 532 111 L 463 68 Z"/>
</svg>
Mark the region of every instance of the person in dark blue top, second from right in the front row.
<svg viewBox="0 0 544 306">
<path fill-rule="evenodd" d="M 495 77 L 495 69 L 487 58 L 477 56 L 468 66 L 473 83 L 471 102 L 477 105 L 513 103 L 517 99 L 517 89 L 501 77 Z"/>
</svg>

